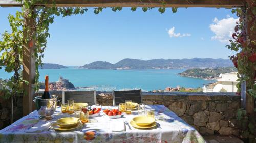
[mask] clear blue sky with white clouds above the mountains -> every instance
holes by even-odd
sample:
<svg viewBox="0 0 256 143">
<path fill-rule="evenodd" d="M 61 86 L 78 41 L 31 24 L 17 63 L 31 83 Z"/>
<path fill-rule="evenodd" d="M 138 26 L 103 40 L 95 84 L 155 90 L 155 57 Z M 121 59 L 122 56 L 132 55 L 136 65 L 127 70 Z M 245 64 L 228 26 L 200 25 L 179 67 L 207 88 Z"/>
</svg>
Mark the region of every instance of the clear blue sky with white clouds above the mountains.
<svg viewBox="0 0 256 143">
<path fill-rule="evenodd" d="M 19 8 L 0 7 L 0 33 L 10 30 L 7 16 Z M 55 17 L 45 63 L 81 66 L 94 61 L 116 63 L 124 58 L 182 59 L 224 58 L 233 53 L 225 47 L 231 39 L 236 15 L 230 9 L 179 8 L 132 12 L 93 9 L 83 15 Z"/>
</svg>

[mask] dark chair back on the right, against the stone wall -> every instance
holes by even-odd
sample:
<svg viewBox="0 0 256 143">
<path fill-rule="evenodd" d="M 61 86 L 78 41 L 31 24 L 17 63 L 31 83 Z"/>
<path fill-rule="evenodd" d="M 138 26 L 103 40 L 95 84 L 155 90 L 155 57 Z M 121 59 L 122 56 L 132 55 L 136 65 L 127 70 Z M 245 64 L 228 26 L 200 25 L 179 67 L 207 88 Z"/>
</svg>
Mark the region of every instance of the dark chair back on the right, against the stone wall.
<svg viewBox="0 0 256 143">
<path fill-rule="evenodd" d="M 132 102 L 142 103 L 141 90 L 113 91 L 112 95 L 114 106 L 118 106 L 119 103 L 124 103 L 125 100 L 132 100 Z"/>
</svg>

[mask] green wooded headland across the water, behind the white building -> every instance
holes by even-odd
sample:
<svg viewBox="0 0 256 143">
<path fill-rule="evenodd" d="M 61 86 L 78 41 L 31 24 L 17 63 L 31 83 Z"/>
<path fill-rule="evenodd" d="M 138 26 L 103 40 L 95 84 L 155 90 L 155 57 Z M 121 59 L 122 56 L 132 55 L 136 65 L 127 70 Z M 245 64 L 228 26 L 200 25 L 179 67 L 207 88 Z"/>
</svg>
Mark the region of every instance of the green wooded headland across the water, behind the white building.
<svg viewBox="0 0 256 143">
<path fill-rule="evenodd" d="M 204 79 L 214 79 L 218 78 L 221 73 L 237 72 L 234 67 L 219 67 L 219 68 L 205 68 L 205 69 L 188 69 L 182 73 L 180 76 L 204 78 Z"/>
</svg>

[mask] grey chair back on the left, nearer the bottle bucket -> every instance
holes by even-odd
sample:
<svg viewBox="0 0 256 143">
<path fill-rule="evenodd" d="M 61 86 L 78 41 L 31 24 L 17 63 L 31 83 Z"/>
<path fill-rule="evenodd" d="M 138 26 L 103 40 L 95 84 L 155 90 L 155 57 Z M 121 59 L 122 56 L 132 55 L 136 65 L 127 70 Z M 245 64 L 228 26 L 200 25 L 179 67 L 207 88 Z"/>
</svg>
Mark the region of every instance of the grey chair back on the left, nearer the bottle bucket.
<svg viewBox="0 0 256 143">
<path fill-rule="evenodd" d="M 75 103 L 88 103 L 89 106 L 96 105 L 96 91 L 62 91 L 62 103 L 68 103 L 74 99 Z"/>
</svg>

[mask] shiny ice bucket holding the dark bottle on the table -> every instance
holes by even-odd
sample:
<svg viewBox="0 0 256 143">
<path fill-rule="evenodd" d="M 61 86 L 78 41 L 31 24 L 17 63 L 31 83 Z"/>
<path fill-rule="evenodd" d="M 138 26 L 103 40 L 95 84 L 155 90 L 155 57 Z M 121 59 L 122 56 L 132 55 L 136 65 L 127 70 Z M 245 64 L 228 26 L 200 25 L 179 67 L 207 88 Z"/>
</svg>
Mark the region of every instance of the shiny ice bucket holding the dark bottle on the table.
<svg viewBox="0 0 256 143">
<path fill-rule="evenodd" d="M 54 117 L 54 112 L 56 110 L 58 96 L 52 95 L 51 99 L 42 99 L 41 96 L 35 97 L 33 100 L 35 102 L 36 110 L 38 112 L 39 118 L 43 120 L 50 120 Z"/>
</svg>

